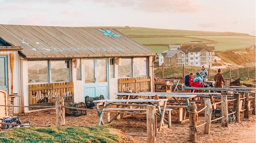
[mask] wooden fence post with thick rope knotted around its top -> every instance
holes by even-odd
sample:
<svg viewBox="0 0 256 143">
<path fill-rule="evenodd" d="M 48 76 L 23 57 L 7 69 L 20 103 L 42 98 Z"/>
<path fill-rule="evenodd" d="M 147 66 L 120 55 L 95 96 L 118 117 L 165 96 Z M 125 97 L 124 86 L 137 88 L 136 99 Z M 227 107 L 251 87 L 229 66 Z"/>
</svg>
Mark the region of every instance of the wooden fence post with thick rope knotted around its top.
<svg viewBox="0 0 256 143">
<path fill-rule="evenodd" d="M 190 106 L 196 107 L 196 103 L 195 102 L 190 102 L 189 103 Z M 196 112 L 196 109 L 190 109 L 190 111 L 192 112 Z M 197 118 L 198 118 L 198 113 L 191 113 L 189 112 L 189 140 L 193 143 L 196 143 L 196 135 L 197 135 Z"/>
</svg>

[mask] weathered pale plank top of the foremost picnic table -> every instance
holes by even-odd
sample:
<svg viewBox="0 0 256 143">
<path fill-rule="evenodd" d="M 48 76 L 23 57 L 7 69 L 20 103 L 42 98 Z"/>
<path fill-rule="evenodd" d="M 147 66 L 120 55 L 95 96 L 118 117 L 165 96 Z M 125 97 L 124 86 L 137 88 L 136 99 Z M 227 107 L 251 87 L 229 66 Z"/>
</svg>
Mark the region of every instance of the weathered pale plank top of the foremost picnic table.
<svg viewBox="0 0 256 143">
<path fill-rule="evenodd" d="M 118 103 L 118 102 L 163 102 L 163 101 L 168 101 L 168 99 L 103 99 L 103 100 L 95 100 L 93 102 L 99 103 L 99 102 L 108 102 L 108 103 Z"/>
</svg>

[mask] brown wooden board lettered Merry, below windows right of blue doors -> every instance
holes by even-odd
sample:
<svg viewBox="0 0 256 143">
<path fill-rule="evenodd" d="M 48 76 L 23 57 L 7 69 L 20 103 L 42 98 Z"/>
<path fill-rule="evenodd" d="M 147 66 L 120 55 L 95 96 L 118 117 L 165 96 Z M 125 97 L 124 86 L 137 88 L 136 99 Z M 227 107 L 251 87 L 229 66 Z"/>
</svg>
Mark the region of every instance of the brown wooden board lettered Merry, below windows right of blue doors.
<svg viewBox="0 0 256 143">
<path fill-rule="evenodd" d="M 136 77 L 136 78 L 120 78 L 118 79 L 118 92 L 123 93 L 128 90 L 140 92 L 150 92 L 151 77 Z"/>
</svg>

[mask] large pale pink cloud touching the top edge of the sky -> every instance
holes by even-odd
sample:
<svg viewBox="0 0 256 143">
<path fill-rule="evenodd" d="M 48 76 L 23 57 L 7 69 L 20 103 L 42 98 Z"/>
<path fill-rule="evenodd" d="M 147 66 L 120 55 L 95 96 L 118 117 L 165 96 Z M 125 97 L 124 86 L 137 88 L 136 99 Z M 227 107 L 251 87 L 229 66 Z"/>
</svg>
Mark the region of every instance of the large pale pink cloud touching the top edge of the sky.
<svg viewBox="0 0 256 143">
<path fill-rule="evenodd" d="M 131 7 L 145 12 L 195 13 L 203 6 L 198 0 L 91 0 L 112 7 Z"/>
</svg>

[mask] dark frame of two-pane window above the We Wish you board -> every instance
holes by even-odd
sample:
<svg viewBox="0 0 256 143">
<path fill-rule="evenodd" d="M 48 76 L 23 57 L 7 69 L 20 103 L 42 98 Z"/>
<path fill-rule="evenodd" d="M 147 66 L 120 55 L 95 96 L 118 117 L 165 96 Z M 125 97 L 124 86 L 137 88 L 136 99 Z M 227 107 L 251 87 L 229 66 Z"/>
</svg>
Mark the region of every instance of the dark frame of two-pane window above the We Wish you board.
<svg viewBox="0 0 256 143">
<path fill-rule="evenodd" d="M 73 81 L 73 79 L 72 79 L 72 62 L 71 62 L 71 59 L 54 59 L 54 60 L 51 60 L 51 59 L 35 59 L 35 60 L 28 60 L 28 61 L 45 61 L 45 60 L 47 61 L 48 82 L 36 82 L 36 83 L 29 83 L 28 82 L 28 85 L 48 84 L 48 83 L 63 83 L 63 82 L 72 82 Z M 69 61 L 69 81 L 52 82 L 52 79 L 51 79 L 52 71 L 51 71 L 51 62 L 50 61 Z M 28 68 L 27 68 L 27 76 L 28 76 Z M 82 76 L 82 74 L 81 74 L 81 76 Z"/>
</svg>

